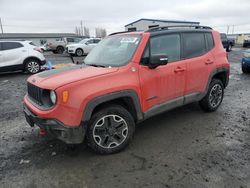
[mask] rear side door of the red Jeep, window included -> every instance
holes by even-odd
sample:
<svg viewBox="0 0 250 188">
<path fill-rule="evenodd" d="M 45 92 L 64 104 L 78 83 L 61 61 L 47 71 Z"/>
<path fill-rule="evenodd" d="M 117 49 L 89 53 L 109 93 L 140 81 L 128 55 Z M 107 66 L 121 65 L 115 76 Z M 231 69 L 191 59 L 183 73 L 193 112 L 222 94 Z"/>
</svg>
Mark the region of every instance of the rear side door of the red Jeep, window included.
<svg viewBox="0 0 250 188">
<path fill-rule="evenodd" d="M 183 33 L 183 59 L 187 63 L 185 95 L 196 97 L 205 91 L 210 73 L 215 67 L 211 33 Z"/>
</svg>

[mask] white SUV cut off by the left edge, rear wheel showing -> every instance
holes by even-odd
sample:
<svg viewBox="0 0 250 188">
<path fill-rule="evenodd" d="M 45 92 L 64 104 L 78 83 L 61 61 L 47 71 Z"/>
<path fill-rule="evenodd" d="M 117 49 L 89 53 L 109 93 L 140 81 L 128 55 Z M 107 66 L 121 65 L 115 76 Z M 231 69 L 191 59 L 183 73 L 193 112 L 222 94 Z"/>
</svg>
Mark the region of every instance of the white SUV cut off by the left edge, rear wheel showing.
<svg viewBox="0 0 250 188">
<path fill-rule="evenodd" d="M 45 63 L 41 49 L 31 41 L 0 41 L 0 72 L 22 70 L 35 74 Z"/>
</svg>

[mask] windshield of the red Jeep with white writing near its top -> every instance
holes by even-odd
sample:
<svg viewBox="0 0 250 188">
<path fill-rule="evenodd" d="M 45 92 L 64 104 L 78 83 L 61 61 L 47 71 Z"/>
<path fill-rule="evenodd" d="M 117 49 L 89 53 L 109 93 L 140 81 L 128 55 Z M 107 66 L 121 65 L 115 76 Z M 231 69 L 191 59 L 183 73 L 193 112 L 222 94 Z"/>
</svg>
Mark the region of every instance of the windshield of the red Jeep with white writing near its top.
<svg viewBox="0 0 250 188">
<path fill-rule="evenodd" d="M 140 35 L 114 35 L 103 39 L 84 59 L 85 64 L 117 67 L 129 63 Z"/>
</svg>

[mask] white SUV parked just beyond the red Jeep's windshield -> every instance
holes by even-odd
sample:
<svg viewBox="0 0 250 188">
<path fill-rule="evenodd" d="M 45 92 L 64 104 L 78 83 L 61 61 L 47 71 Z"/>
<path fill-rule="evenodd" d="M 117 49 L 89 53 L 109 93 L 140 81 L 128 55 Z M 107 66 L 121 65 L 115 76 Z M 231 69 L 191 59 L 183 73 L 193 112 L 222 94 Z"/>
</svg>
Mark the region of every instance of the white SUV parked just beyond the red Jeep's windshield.
<svg viewBox="0 0 250 188">
<path fill-rule="evenodd" d="M 100 41 L 100 38 L 83 39 L 79 43 L 67 45 L 66 51 L 72 55 L 83 56 L 88 54 Z"/>
</svg>

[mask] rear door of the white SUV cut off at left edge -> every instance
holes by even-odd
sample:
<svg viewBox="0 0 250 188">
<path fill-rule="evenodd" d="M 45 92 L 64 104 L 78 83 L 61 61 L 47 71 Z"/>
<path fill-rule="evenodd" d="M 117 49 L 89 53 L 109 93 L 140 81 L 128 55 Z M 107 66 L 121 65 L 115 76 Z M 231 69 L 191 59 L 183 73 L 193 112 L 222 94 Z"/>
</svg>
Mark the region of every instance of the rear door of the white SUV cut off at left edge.
<svg viewBox="0 0 250 188">
<path fill-rule="evenodd" d="M 3 63 L 0 67 L 18 66 L 23 64 L 27 49 L 19 42 L 2 42 Z"/>
</svg>

